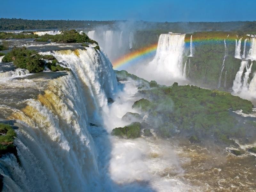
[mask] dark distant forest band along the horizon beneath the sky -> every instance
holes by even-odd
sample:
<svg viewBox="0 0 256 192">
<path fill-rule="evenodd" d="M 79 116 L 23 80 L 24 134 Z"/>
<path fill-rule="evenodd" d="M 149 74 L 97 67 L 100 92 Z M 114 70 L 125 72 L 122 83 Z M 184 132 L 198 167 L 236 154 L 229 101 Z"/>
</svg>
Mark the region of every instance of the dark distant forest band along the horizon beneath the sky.
<svg viewBox="0 0 256 192">
<path fill-rule="evenodd" d="M 28 29 L 92 29 L 97 26 L 117 28 L 120 22 L 131 21 L 89 21 L 89 20 L 24 20 L 24 19 L 0 19 L 0 30 L 28 30 Z M 231 21 L 231 22 L 132 22 L 137 30 L 145 29 L 172 29 L 173 32 L 194 32 L 208 30 L 241 30 L 256 31 L 256 21 Z"/>
</svg>

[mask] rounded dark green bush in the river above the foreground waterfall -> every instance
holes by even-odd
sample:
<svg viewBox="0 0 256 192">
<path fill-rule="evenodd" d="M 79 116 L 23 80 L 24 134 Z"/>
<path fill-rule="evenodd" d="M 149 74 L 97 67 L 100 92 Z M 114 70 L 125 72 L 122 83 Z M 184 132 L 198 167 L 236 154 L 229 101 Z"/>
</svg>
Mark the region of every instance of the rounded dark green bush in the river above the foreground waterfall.
<svg viewBox="0 0 256 192">
<path fill-rule="evenodd" d="M 42 55 L 39 55 L 34 50 L 28 50 L 26 47 L 14 47 L 11 52 L 8 52 L 3 62 L 11 62 L 18 68 L 28 69 L 30 73 L 37 73 L 44 70 L 44 60 Z"/>
</svg>

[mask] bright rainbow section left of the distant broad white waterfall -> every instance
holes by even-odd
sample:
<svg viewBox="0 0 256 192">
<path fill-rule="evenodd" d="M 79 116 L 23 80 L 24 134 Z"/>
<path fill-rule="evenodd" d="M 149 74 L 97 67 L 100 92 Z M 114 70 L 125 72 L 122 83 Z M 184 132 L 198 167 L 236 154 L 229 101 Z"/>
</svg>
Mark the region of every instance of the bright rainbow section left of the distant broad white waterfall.
<svg viewBox="0 0 256 192">
<path fill-rule="evenodd" d="M 148 47 L 143 47 L 139 50 L 130 52 L 119 59 L 115 60 L 113 62 L 113 68 L 121 70 L 123 67 L 127 67 L 128 65 L 132 65 L 133 63 L 143 59 L 147 58 L 149 56 L 154 56 L 157 48 L 157 43 L 152 44 Z"/>
</svg>

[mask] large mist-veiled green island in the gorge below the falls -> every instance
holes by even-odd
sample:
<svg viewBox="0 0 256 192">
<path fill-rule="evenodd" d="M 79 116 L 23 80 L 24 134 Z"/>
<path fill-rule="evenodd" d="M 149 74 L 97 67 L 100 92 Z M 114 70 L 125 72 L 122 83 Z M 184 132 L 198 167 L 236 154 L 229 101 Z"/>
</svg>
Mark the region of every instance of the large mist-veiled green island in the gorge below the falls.
<svg viewBox="0 0 256 192">
<path fill-rule="evenodd" d="M 252 112 L 252 103 L 233 96 L 228 92 L 201 89 L 193 85 L 172 87 L 162 86 L 138 91 L 144 98 L 133 104 L 149 115 L 148 124 L 154 125 L 156 133 L 168 138 L 177 134 L 194 133 L 191 141 L 212 138 L 224 144 L 234 141 L 230 137 L 245 137 L 246 129 L 231 116 L 230 110 L 242 109 L 244 113 Z M 156 123 L 157 122 L 157 123 Z"/>
</svg>

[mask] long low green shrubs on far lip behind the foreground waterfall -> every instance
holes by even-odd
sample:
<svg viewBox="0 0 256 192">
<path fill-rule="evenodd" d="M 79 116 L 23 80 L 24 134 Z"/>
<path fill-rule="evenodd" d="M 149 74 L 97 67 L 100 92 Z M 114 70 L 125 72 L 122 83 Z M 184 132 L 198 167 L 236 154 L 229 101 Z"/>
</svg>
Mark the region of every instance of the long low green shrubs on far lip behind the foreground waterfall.
<svg viewBox="0 0 256 192">
<path fill-rule="evenodd" d="M 36 41 L 51 41 L 56 43 L 95 43 L 96 41 L 90 39 L 85 33 L 79 34 L 75 29 L 68 31 L 61 31 L 58 35 L 44 35 L 36 39 Z"/>
</svg>

